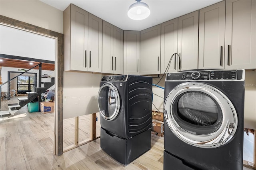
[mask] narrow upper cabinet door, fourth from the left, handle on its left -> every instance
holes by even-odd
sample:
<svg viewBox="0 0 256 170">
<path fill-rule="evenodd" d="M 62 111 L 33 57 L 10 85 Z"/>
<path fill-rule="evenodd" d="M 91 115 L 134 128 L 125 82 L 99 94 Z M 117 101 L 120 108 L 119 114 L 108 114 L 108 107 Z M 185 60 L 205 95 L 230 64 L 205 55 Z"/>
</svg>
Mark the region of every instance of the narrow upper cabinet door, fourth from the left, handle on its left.
<svg viewBox="0 0 256 170">
<path fill-rule="evenodd" d="M 114 74 L 124 72 L 124 31 L 114 26 Z"/>
</svg>

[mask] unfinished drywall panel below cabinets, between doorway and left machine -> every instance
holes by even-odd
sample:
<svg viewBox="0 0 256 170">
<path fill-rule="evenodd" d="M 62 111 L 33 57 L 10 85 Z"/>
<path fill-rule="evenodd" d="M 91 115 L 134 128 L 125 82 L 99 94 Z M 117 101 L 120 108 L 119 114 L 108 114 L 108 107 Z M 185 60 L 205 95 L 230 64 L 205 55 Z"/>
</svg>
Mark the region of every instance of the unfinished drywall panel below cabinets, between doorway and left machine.
<svg viewBox="0 0 256 170">
<path fill-rule="evenodd" d="M 64 71 L 64 119 L 99 112 L 97 96 L 101 78 L 101 74 Z"/>
</svg>

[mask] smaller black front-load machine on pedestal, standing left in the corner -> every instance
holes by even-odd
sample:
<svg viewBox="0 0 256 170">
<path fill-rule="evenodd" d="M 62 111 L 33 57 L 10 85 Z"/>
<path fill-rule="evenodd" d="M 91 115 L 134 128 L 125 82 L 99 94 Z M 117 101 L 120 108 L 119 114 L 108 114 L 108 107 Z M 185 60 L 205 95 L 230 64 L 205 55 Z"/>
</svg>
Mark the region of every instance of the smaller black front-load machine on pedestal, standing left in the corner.
<svg viewBox="0 0 256 170">
<path fill-rule="evenodd" d="M 151 147 L 152 77 L 104 76 L 98 92 L 100 147 L 129 164 Z"/>
</svg>

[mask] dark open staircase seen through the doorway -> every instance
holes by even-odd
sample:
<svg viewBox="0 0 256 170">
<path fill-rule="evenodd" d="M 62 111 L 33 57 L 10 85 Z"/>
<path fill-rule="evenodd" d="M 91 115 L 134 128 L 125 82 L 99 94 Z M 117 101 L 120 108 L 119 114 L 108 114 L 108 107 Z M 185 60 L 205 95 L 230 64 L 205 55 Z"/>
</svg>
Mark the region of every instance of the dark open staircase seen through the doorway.
<svg viewBox="0 0 256 170">
<path fill-rule="evenodd" d="M 14 115 L 19 109 L 24 107 L 26 104 L 34 101 L 38 97 L 38 102 L 41 101 L 41 93 L 44 93 L 49 87 L 54 85 L 55 78 L 52 77 L 50 82 L 42 82 L 44 87 L 34 87 L 32 92 L 26 92 L 27 96 L 17 97 L 19 103 L 8 104 L 9 113 Z"/>
</svg>

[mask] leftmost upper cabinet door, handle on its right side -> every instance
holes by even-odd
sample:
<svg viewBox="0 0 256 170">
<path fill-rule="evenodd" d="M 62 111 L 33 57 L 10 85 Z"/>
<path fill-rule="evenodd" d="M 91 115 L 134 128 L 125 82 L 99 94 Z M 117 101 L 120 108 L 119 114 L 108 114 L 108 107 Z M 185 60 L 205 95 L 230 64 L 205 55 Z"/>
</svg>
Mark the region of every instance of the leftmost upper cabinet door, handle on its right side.
<svg viewBox="0 0 256 170">
<path fill-rule="evenodd" d="M 88 12 L 72 5 L 70 24 L 70 69 L 87 71 Z"/>
</svg>

